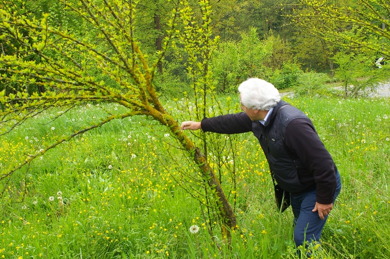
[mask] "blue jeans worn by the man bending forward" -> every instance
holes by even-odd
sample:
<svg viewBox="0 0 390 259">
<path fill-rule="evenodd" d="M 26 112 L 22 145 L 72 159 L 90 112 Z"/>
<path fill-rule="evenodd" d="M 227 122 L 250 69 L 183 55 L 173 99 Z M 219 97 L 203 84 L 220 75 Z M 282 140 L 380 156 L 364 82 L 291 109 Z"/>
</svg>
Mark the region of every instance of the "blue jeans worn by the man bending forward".
<svg viewBox="0 0 390 259">
<path fill-rule="evenodd" d="M 340 173 L 336 172 L 337 186 L 334 192 L 334 199 L 341 190 Z M 298 196 L 291 195 L 291 207 L 294 213 L 294 241 L 298 247 L 305 241 L 319 241 L 322 229 L 325 226 L 328 215 L 324 220 L 318 216 L 318 211 L 312 212 L 315 206 L 316 190 L 308 191 Z M 333 201 L 334 203 L 334 201 Z"/>
</svg>

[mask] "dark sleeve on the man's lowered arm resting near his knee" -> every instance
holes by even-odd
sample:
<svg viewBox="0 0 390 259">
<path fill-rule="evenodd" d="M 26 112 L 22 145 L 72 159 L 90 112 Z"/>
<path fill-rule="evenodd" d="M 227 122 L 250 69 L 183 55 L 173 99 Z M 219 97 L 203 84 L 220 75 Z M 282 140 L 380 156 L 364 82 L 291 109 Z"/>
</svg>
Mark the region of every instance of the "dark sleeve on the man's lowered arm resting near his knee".
<svg viewBox="0 0 390 259">
<path fill-rule="evenodd" d="M 306 119 L 294 119 L 285 131 L 286 146 L 295 153 L 312 173 L 316 183 L 316 201 L 321 204 L 334 202 L 336 189 L 335 165 L 317 132 Z"/>
</svg>

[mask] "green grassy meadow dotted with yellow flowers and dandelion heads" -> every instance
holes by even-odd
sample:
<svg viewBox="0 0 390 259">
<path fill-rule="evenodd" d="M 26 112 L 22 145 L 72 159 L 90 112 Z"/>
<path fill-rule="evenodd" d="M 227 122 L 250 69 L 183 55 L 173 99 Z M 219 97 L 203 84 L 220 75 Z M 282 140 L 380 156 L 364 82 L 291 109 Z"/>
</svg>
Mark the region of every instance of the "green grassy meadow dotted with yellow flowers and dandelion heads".
<svg viewBox="0 0 390 259">
<path fill-rule="evenodd" d="M 343 183 L 322 245 L 310 248 L 312 258 L 390 259 L 390 100 L 285 100 L 312 119 Z M 165 107 L 182 121 L 191 113 L 185 103 L 166 100 Z M 124 108 L 91 104 L 40 113 L 0 137 L 1 172 L 72 130 L 120 111 Z M 236 179 L 233 191 L 222 180 L 238 221 L 230 246 L 216 222 L 215 238 L 210 237 L 191 193 L 199 184 L 177 181 L 178 170 L 192 175 L 196 167 L 175 148 L 165 127 L 138 116 L 66 141 L 1 182 L 6 189 L 0 200 L 0 258 L 298 258 L 291 208 L 283 214 L 276 209 L 260 145 L 252 133 L 231 137 L 234 161 L 220 157 Z M 199 226 L 195 234 L 192 225 Z"/>
</svg>

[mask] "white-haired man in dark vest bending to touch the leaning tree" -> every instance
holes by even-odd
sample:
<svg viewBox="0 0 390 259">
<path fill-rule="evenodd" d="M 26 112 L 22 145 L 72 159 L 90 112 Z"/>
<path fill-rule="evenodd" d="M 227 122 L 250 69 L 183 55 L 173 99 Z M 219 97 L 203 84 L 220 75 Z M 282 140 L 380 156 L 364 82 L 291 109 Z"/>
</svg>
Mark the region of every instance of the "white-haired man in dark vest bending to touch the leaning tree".
<svg viewBox="0 0 390 259">
<path fill-rule="evenodd" d="M 340 174 L 311 120 L 280 100 L 273 84 L 250 78 L 240 84 L 244 112 L 185 121 L 181 129 L 235 134 L 252 131 L 268 160 L 277 188 L 290 193 L 296 246 L 319 241 L 334 200 Z M 277 189 L 276 188 L 276 189 Z"/>
</svg>

